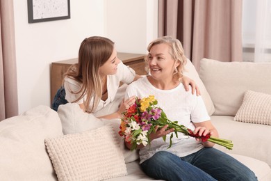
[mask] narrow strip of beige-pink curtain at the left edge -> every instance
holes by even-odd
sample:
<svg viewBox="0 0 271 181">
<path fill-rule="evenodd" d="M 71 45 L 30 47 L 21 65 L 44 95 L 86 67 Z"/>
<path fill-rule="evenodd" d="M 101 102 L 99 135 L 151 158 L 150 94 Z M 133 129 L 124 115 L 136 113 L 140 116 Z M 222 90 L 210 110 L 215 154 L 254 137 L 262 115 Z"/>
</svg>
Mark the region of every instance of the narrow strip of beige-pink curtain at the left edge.
<svg viewBox="0 0 271 181">
<path fill-rule="evenodd" d="M 13 0 L 0 0 L 0 121 L 18 114 Z"/>
</svg>

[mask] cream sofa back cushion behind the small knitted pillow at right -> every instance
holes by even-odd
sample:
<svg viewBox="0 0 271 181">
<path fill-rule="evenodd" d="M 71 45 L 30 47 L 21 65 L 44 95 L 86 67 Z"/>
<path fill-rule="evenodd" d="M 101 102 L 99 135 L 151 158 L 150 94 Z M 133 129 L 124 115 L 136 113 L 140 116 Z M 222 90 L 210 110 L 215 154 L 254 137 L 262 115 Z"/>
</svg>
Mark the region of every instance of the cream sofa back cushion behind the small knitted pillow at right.
<svg viewBox="0 0 271 181">
<path fill-rule="evenodd" d="M 203 58 L 199 77 L 215 105 L 214 115 L 235 116 L 245 91 L 271 94 L 271 63 L 220 62 Z"/>
</svg>

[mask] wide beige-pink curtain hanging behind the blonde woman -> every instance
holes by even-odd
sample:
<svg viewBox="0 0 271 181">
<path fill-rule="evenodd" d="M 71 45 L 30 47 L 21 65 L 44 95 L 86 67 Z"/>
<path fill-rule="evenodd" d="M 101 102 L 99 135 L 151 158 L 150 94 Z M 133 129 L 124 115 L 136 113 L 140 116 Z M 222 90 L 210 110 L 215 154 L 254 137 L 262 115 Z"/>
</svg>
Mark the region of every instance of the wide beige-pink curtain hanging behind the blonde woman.
<svg viewBox="0 0 271 181">
<path fill-rule="evenodd" d="M 159 0 L 158 36 L 173 36 L 196 69 L 202 58 L 242 61 L 242 0 Z"/>
</svg>

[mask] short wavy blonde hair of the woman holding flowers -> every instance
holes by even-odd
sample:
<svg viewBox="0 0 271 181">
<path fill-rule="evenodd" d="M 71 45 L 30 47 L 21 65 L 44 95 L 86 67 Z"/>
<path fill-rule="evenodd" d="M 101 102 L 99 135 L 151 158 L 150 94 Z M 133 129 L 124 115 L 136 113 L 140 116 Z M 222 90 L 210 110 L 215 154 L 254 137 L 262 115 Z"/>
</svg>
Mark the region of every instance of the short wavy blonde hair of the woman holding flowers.
<svg viewBox="0 0 271 181">
<path fill-rule="evenodd" d="M 178 39 L 172 38 L 171 36 L 163 36 L 149 43 L 149 46 L 147 47 L 148 52 L 151 51 L 151 47 L 159 44 L 169 45 L 170 46 L 169 54 L 175 61 L 179 61 L 180 64 L 176 67 L 173 76 L 179 81 L 181 81 L 181 78 L 183 77 L 184 65 L 186 65 L 187 62 L 187 58 L 184 55 L 183 46 L 181 45 L 181 42 Z M 148 61 L 147 56 L 145 57 L 145 61 Z"/>
</svg>

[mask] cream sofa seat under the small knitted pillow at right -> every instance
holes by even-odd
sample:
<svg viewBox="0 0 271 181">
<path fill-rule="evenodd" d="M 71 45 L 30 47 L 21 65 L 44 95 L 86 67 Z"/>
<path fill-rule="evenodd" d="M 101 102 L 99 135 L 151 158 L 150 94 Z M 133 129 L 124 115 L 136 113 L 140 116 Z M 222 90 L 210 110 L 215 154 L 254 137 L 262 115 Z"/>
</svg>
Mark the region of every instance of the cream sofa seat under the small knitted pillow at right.
<svg viewBox="0 0 271 181">
<path fill-rule="evenodd" d="M 269 125 L 242 123 L 233 120 L 233 116 L 211 116 L 211 122 L 221 138 L 233 141 L 233 150 L 227 150 L 220 145 L 215 145 L 215 148 L 231 154 L 253 157 L 271 166 L 271 157 L 268 154 L 271 144 L 266 142 L 271 140 Z"/>
</svg>

